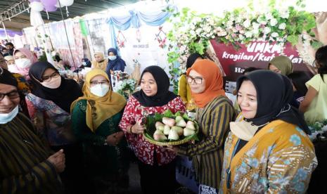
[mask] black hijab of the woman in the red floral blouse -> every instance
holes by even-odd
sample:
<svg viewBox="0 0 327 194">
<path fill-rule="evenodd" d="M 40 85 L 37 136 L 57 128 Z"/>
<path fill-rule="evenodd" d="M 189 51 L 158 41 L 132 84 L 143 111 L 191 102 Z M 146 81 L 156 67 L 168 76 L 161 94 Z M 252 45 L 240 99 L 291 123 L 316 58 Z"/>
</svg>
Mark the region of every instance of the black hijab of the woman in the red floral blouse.
<svg viewBox="0 0 327 194">
<path fill-rule="evenodd" d="M 146 93 L 142 90 L 133 93 L 133 96 L 141 103 L 141 105 L 145 107 L 167 105 L 169 101 L 172 101 L 177 97 L 176 94 L 169 91 L 169 77 L 161 67 L 155 65 L 146 67 L 142 72 L 141 79 L 145 72 L 149 72 L 154 77 L 158 91 L 155 96 L 146 96 Z"/>
</svg>

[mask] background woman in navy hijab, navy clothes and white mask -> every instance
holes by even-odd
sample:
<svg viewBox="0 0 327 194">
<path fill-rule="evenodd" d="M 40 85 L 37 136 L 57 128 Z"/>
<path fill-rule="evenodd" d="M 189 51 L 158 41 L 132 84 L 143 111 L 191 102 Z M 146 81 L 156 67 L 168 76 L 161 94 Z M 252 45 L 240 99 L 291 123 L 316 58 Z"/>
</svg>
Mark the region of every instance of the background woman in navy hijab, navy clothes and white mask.
<svg viewBox="0 0 327 194">
<path fill-rule="evenodd" d="M 110 71 L 122 71 L 124 72 L 126 63 L 120 56 L 118 56 L 117 50 L 115 48 L 108 49 L 108 66 L 105 72 L 110 75 Z"/>
</svg>

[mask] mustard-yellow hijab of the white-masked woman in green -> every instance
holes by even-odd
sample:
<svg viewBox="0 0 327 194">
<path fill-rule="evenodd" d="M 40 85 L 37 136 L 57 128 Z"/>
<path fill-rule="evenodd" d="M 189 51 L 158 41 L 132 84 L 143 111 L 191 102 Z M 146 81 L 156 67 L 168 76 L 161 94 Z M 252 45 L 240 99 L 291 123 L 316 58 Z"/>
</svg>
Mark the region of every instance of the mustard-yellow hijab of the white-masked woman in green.
<svg viewBox="0 0 327 194">
<path fill-rule="evenodd" d="M 86 125 L 95 132 L 105 119 L 112 117 L 120 112 L 126 105 L 126 100 L 119 93 L 113 92 L 111 89 L 103 97 L 98 97 L 91 93 L 91 79 L 97 75 L 102 75 L 108 80 L 108 75 L 103 70 L 94 69 L 86 74 L 85 82 L 83 86 L 84 96 L 79 97 L 76 101 L 70 105 L 70 111 L 75 107 L 77 101 L 86 100 Z"/>
</svg>

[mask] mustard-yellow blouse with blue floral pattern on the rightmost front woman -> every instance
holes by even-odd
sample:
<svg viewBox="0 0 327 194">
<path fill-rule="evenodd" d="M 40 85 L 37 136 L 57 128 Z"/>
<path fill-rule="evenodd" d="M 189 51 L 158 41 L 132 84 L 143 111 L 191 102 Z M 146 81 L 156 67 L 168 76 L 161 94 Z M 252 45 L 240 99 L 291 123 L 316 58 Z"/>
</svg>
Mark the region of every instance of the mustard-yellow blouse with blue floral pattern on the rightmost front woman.
<svg viewBox="0 0 327 194">
<path fill-rule="evenodd" d="M 275 120 L 232 157 L 238 140 L 226 139 L 220 193 L 305 193 L 318 162 L 302 129 Z"/>
</svg>

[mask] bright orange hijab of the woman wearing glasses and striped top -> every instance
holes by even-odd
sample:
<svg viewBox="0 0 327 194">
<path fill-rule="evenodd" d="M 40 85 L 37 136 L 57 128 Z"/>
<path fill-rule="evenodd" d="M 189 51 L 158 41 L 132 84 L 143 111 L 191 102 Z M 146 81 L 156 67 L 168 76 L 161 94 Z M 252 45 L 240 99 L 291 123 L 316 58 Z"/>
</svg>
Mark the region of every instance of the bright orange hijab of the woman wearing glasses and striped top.
<svg viewBox="0 0 327 194">
<path fill-rule="evenodd" d="M 188 76 L 191 70 L 195 70 L 205 79 L 205 91 L 203 93 L 193 93 L 195 104 L 198 108 L 203 108 L 217 96 L 225 96 L 223 89 L 222 72 L 212 60 L 201 59 L 196 60 L 191 68 L 188 68 L 186 75 Z"/>
</svg>

